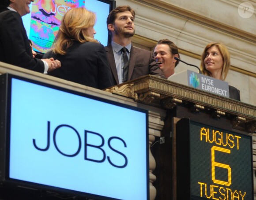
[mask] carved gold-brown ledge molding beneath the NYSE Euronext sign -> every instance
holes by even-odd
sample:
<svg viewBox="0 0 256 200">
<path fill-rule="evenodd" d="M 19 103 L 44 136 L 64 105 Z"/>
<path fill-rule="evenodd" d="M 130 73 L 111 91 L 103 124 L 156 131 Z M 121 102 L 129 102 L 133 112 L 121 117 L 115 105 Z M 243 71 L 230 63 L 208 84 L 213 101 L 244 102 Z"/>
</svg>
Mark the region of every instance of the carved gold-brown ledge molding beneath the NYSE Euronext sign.
<svg viewBox="0 0 256 200">
<path fill-rule="evenodd" d="M 131 95 L 122 93 L 130 85 Z M 256 130 L 256 106 L 241 101 L 194 89 L 152 75 L 116 85 L 107 91 L 128 96 L 137 102 L 162 108 L 173 108 L 179 104 L 192 104 L 193 111 L 213 110 L 215 117 L 232 119 L 234 127 L 246 128 L 250 133 Z"/>
</svg>

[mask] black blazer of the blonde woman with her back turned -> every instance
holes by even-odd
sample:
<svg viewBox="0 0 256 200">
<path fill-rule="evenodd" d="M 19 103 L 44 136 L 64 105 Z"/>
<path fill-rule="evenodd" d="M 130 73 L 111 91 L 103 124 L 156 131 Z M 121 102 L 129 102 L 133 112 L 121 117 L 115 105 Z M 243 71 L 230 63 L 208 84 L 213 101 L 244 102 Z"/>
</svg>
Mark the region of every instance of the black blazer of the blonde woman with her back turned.
<svg viewBox="0 0 256 200">
<path fill-rule="evenodd" d="M 49 51 L 43 56 L 43 58 L 51 57 L 60 60 L 61 63 L 60 68 L 48 73 L 51 76 L 98 89 L 113 85 L 113 77 L 102 44 L 74 41 L 66 55 Z"/>
</svg>

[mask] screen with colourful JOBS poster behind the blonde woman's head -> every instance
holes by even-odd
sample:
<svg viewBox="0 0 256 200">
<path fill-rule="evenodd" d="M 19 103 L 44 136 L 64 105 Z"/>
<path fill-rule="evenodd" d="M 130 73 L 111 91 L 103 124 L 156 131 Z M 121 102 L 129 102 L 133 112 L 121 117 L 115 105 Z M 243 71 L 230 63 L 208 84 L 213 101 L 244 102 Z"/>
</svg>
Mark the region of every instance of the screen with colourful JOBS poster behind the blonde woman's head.
<svg viewBox="0 0 256 200">
<path fill-rule="evenodd" d="M 35 0 L 30 4 L 30 13 L 22 17 L 34 51 L 44 54 L 52 47 L 63 15 L 74 7 L 86 7 L 96 13 L 94 38 L 104 46 L 108 44 L 106 19 L 109 11 L 115 8 L 114 0 Z"/>
</svg>

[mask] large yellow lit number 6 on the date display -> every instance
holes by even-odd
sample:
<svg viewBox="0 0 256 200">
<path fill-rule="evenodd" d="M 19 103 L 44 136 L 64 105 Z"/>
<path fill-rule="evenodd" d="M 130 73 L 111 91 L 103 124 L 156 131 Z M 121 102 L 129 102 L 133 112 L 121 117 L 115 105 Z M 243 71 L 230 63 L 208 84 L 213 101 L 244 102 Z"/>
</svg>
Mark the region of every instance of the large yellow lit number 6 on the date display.
<svg viewBox="0 0 256 200">
<path fill-rule="evenodd" d="M 229 165 L 226 165 L 223 163 L 215 162 L 215 151 L 230 153 L 230 149 L 221 148 L 221 147 L 217 147 L 217 146 L 213 146 L 211 148 L 211 178 L 212 178 L 212 181 L 216 184 L 230 186 L 231 185 L 231 167 Z M 215 167 L 221 167 L 221 168 L 225 168 L 228 170 L 228 182 L 215 179 Z"/>
</svg>

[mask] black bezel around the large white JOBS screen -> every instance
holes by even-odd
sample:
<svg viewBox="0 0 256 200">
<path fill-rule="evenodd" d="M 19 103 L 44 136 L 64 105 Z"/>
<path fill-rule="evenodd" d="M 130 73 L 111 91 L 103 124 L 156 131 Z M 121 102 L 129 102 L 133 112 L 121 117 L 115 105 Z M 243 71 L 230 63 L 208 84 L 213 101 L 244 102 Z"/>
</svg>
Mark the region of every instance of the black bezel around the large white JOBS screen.
<svg viewBox="0 0 256 200">
<path fill-rule="evenodd" d="M 146 177 L 147 183 L 149 183 L 149 152 L 148 152 L 148 111 L 139 107 L 133 107 L 127 104 L 121 104 L 116 101 L 106 100 L 98 96 L 91 96 L 89 94 L 79 93 L 76 91 L 72 91 L 70 89 L 61 88 L 55 85 L 50 85 L 45 82 L 35 81 L 29 78 L 24 78 L 12 74 L 2 74 L 0 75 L 0 184 L 5 185 L 5 187 L 19 187 L 24 189 L 33 189 L 33 190 L 43 190 L 43 191 L 53 191 L 64 195 L 74 195 L 78 197 L 86 197 L 86 198 L 94 198 L 98 200 L 115 200 L 111 197 L 106 196 L 99 196 L 97 194 L 90 194 L 90 193 L 83 193 L 79 191 L 74 191 L 70 189 L 63 189 L 59 187 L 54 187 L 50 185 L 42 185 L 38 183 L 22 181 L 18 179 L 13 179 L 9 177 L 9 158 L 10 158 L 10 124 L 11 124 L 11 80 L 12 78 L 19 79 L 22 81 L 27 81 L 30 83 L 42 85 L 45 87 L 49 87 L 52 89 L 57 89 L 60 91 L 64 91 L 67 93 L 75 94 L 78 96 L 87 97 L 93 100 L 102 101 L 108 104 L 117 105 L 120 107 L 128 108 L 131 110 L 143 112 L 146 115 L 146 156 L 147 156 L 147 163 L 146 163 Z M 4 148 L 3 148 L 4 147 Z M 149 200 L 149 184 L 147 184 L 147 200 Z"/>
</svg>

